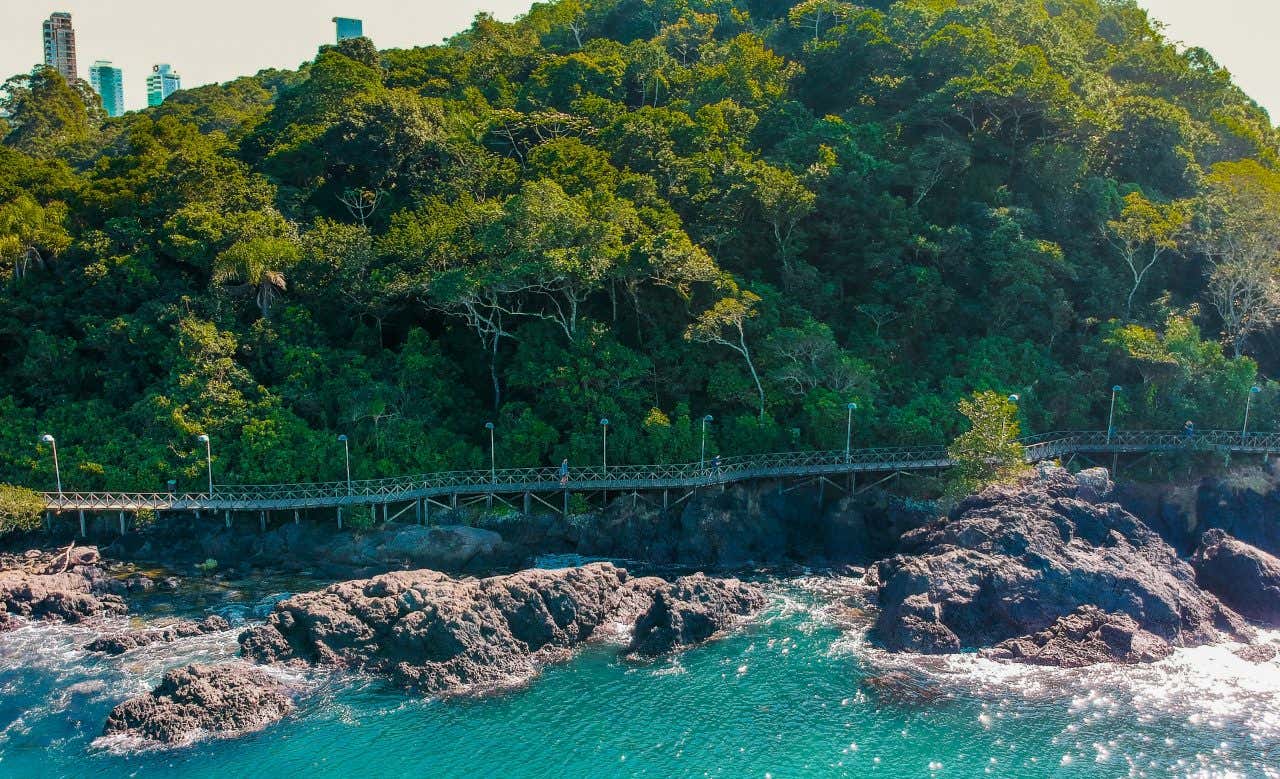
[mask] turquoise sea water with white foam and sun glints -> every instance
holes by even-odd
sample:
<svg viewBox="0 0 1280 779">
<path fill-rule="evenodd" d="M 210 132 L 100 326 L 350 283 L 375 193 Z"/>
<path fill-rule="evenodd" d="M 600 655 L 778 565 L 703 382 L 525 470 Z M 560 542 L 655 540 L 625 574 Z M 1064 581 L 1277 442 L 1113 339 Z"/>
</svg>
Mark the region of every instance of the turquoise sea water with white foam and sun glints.
<svg viewBox="0 0 1280 779">
<path fill-rule="evenodd" d="M 165 668 L 232 656 L 237 631 L 93 659 L 76 649 L 92 631 L 28 627 L 0 636 L 0 776 L 1280 776 L 1276 661 L 1229 647 L 1076 672 L 893 659 L 861 641 L 850 582 L 769 587 L 760 619 L 672 661 L 596 645 L 507 695 L 447 702 L 293 677 L 306 692 L 285 721 L 170 752 L 95 739 Z M 252 620 L 269 590 L 202 609 Z M 895 666 L 942 697 L 865 688 Z"/>
</svg>

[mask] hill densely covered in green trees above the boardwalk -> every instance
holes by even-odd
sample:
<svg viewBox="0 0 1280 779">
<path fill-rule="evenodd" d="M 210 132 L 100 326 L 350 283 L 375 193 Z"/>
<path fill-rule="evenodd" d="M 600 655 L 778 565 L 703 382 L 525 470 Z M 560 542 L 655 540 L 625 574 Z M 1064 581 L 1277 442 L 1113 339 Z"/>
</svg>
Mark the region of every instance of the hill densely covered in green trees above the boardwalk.
<svg viewBox="0 0 1280 779">
<path fill-rule="evenodd" d="M 562 0 L 104 120 L 5 84 L 0 481 L 1236 427 L 1277 136 L 1124 0 Z M 1263 384 L 1257 426 L 1274 427 Z"/>
</svg>

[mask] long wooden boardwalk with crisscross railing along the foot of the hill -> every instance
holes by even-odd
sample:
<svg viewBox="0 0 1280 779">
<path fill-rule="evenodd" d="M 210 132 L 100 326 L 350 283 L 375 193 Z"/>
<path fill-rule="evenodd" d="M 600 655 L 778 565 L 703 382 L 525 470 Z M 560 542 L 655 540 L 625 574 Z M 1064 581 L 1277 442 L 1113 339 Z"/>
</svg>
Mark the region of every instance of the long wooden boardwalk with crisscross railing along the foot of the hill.
<svg viewBox="0 0 1280 779">
<path fill-rule="evenodd" d="M 1073 454 L 1219 452 L 1280 454 L 1280 434 L 1212 430 L 1188 437 L 1180 431 L 1066 431 L 1021 440 L 1027 462 Z M 276 510 L 353 507 L 452 495 L 692 489 L 708 485 L 842 473 L 937 471 L 952 466 L 945 446 L 879 446 L 836 452 L 785 452 L 722 458 L 719 466 L 580 466 L 562 482 L 559 469 L 502 468 L 444 471 L 352 482 L 223 485 L 207 492 L 44 492 L 49 510 Z"/>
</svg>

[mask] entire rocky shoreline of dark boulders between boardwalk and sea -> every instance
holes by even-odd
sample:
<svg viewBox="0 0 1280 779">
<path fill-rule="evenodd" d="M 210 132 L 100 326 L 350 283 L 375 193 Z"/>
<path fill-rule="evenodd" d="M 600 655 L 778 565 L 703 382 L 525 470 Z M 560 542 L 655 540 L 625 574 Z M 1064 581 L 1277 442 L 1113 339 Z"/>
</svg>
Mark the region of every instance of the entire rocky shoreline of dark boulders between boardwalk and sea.
<svg viewBox="0 0 1280 779">
<path fill-rule="evenodd" d="M 1242 657 L 1270 661 L 1274 645 L 1248 643 L 1252 626 L 1280 627 L 1280 560 L 1221 527 L 1179 554 L 1179 539 L 1157 533 L 1129 510 L 1135 505 L 1105 471 L 1042 467 L 942 517 L 884 495 L 805 515 L 781 498 L 728 490 L 664 514 L 616 503 L 585 518 L 489 515 L 481 527 L 329 535 L 333 544 L 314 567 L 370 576 L 279 601 L 264 624 L 241 633 L 243 661 L 170 670 L 151 693 L 120 704 L 104 734 L 177 746 L 265 727 L 287 716 L 296 695 L 262 672 L 270 665 L 357 670 L 431 696 L 486 693 L 527 683 L 593 641 L 616 643 L 632 661 L 681 651 L 732 629 L 767 601 L 758 585 L 704 573 L 668 581 L 612 563 L 520 569 L 535 553 L 704 569 L 820 562 L 850 570 L 869 563 L 856 570 L 873 606 L 870 637 L 891 652 L 977 650 L 996 661 L 1079 668 L 1151 663 L 1174 647 L 1230 640 L 1247 645 Z M 1247 522 L 1234 524 L 1268 539 Z M 250 547 L 227 551 L 228 559 L 301 564 L 323 532 L 283 526 L 236 541 Z M 193 535 L 178 558 L 209 554 L 229 537 Z M 140 535 L 115 550 L 163 556 L 164 539 Z M 456 576 L 503 568 L 515 572 Z M 4 555 L 0 631 L 123 614 L 122 595 L 155 586 L 175 582 L 140 576 L 93 547 Z M 229 624 L 206 617 L 104 634 L 84 649 L 118 655 L 220 631 Z M 892 674 L 874 679 L 868 684 L 881 696 L 902 687 Z"/>
</svg>

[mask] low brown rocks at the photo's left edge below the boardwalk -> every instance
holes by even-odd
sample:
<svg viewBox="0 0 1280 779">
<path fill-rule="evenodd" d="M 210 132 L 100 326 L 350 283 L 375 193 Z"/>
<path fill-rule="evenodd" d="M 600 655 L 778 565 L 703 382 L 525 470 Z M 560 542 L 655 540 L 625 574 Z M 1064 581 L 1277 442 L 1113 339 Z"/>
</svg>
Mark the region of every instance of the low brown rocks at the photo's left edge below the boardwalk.
<svg viewBox="0 0 1280 779">
<path fill-rule="evenodd" d="M 0 629 L 18 624 L 15 617 L 83 622 L 127 610 L 119 596 L 111 595 L 114 582 L 101 567 L 96 549 L 74 547 L 69 553 L 33 553 L 13 558 L 0 570 Z"/>
</svg>

